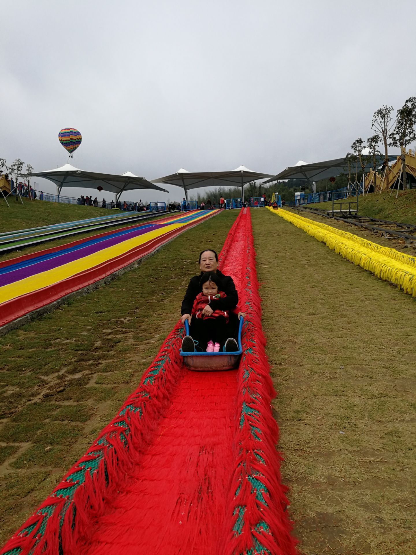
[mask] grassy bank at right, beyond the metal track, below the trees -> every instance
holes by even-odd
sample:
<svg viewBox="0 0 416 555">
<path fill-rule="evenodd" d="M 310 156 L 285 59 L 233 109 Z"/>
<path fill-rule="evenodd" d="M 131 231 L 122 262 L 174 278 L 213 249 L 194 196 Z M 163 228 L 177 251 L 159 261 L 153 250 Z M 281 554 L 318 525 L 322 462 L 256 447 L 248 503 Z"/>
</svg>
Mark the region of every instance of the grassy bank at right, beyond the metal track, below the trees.
<svg viewBox="0 0 416 555">
<path fill-rule="evenodd" d="M 406 224 L 416 224 L 416 189 L 399 191 L 398 198 L 395 198 L 397 191 L 382 193 L 372 193 L 360 196 L 358 201 L 358 215 L 368 216 L 369 218 L 379 218 L 381 220 L 401 221 Z M 356 198 L 352 197 L 351 202 Z M 338 200 L 336 202 L 341 202 Z M 308 204 L 319 210 L 331 210 L 332 201 L 325 203 Z"/>
</svg>

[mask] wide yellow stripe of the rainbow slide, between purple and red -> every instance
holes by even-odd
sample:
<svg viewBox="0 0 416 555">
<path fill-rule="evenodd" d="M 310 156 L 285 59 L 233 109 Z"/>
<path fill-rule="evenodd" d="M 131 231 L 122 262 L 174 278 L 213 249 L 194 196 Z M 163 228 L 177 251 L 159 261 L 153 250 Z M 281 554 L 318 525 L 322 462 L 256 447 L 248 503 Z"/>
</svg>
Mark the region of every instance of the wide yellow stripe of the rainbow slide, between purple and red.
<svg viewBox="0 0 416 555">
<path fill-rule="evenodd" d="M 210 211 L 210 214 L 213 214 L 215 212 L 217 212 L 217 210 L 212 210 Z M 157 237 L 165 235 L 170 231 L 174 231 L 175 229 L 182 228 L 187 224 L 204 219 L 206 218 L 206 216 L 207 213 L 202 213 L 201 216 L 198 216 L 198 218 L 195 218 L 191 222 L 181 222 L 180 220 L 176 221 L 173 224 L 166 225 L 164 228 L 148 231 L 148 233 L 144 233 L 143 235 L 139 235 L 132 239 L 123 241 L 118 245 L 109 246 L 106 249 L 100 250 L 98 253 L 84 256 L 83 258 L 79 258 L 78 260 L 74 260 L 73 262 L 68 262 L 67 264 L 58 266 L 58 268 L 46 270 L 39 274 L 29 276 L 28 278 L 15 281 L 14 283 L 8 285 L 4 285 L 3 287 L 0 287 L 0 304 L 11 299 L 15 299 L 16 297 L 19 297 L 21 295 L 31 293 L 32 291 L 43 289 L 43 287 L 48 287 L 49 285 L 53 285 L 55 283 L 58 283 L 59 281 L 63 281 L 64 279 L 68 279 L 75 274 L 79 274 L 80 272 L 94 268 L 94 266 L 98 266 L 103 262 L 106 262 L 113 258 L 117 258 L 118 256 L 127 253 L 129 250 L 134 249 L 136 246 L 143 245 L 144 243 L 147 243 L 147 241 L 156 239 Z M 183 218 L 183 216 L 181 217 Z"/>
</svg>

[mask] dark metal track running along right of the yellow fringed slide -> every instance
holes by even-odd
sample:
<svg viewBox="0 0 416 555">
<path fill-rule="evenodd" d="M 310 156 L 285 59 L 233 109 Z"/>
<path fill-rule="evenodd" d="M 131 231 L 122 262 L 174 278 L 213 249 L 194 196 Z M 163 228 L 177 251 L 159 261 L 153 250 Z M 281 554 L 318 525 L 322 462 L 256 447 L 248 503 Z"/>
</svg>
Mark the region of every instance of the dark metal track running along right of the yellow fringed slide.
<svg viewBox="0 0 416 555">
<path fill-rule="evenodd" d="M 319 210 L 310 208 L 309 206 L 291 206 L 290 208 L 295 208 L 298 211 L 305 211 L 312 214 L 317 214 L 318 216 L 324 216 L 324 218 L 343 221 L 346 224 L 356 225 L 361 228 L 369 229 L 374 233 L 382 233 L 385 238 L 393 239 L 395 237 L 404 239 L 405 243 L 416 244 L 416 225 L 405 224 L 400 221 L 389 221 L 389 220 L 379 220 L 377 218 L 369 218 L 368 216 L 353 216 L 348 215 L 348 217 L 342 218 L 341 216 L 333 216 L 327 214 L 326 210 Z M 382 224 L 382 225 L 379 225 Z M 405 233 L 405 231 L 409 233 Z"/>
</svg>

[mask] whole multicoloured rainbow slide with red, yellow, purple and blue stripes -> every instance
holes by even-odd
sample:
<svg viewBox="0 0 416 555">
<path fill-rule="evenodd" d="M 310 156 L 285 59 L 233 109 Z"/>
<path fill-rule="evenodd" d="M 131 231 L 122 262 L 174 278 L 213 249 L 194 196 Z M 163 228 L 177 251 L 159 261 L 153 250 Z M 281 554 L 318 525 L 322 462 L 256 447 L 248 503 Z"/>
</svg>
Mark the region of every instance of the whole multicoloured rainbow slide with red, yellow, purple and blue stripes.
<svg viewBox="0 0 416 555">
<path fill-rule="evenodd" d="M 0 327 L 92 285 L 220 210 L 108 231 L 0 263 Z"/>
</svg>

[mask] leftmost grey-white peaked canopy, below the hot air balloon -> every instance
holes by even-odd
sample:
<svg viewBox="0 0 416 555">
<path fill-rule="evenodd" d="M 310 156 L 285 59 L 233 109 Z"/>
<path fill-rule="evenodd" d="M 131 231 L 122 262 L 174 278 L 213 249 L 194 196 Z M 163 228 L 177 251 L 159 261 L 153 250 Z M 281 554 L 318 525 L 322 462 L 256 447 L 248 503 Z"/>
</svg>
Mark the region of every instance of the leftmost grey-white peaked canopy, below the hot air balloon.
<svg viewBox="0 0 416 555">
<path fill-rule="evenodd" d="M 124 191 L 136 189 L 153 189 L 169 193 L 158 185 L 151 183 L 143 177 L 138 177 L 126 171 L 123 175 L 98 173 L 96 171 L 85 171 L 75 168 L 71 164 L 65 164 L 62 168 L 48 171 L 37 171 L 33 176 L 49 179 L 57 186 L 58 195 L 63 187 L 77 187 L 81 189 L 96 189 L 101 186 L 104 191 L 114 193 L 115 199 L 120 198 Z"/>
</svg>

